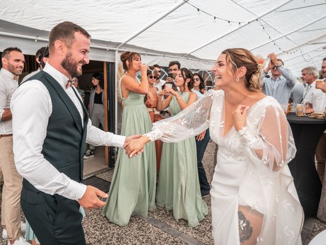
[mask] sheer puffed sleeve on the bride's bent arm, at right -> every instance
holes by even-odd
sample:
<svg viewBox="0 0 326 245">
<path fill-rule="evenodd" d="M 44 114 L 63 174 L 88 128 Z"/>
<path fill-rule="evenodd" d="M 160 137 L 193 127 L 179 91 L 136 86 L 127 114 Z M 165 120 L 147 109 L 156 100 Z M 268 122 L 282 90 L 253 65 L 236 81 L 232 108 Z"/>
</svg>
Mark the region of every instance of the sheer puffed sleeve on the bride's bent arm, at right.
<svg viewBox="0 0 326 245">
<path fill-rule="evenodd" d="M 247 127 L 238 134 L 248 157 L 265 174 L 281 169 L 295 155 L 290 126 L 278 107 L 266 107 L 260 118 L 258 134 L 253 134 Z"/>
</svg>

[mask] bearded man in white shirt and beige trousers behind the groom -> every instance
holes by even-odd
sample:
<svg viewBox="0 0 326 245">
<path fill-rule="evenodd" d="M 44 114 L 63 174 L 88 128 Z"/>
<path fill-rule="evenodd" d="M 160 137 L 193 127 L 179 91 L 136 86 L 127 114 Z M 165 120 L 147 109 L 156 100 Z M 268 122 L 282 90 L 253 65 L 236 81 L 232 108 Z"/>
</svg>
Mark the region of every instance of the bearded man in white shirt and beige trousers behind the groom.
<svg viewBox="0 0 326 245">
<path fill-rule="evenodd" d="M 0 167 L 4 175 L 2 195 L 1 225 L 2 236 L 8 237 L 8 244 L 29 244 L 21 237 L 25 224 L 20 220 L 20 191 L 22 178 L 18 174 L 13 154 L 13 130 L 10 102 L 18 87 L 17 78 L 21 75 L 25 58 L 17 47 L 6 48 L 2 54 L 0 70 Z"/>
</svg>

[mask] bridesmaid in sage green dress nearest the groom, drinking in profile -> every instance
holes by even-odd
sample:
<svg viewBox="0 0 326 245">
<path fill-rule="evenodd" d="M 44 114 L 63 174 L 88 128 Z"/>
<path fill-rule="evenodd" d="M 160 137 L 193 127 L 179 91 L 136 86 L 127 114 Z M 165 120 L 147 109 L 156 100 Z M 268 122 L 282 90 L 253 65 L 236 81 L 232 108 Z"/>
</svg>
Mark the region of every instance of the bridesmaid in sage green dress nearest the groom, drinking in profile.
<svg viewBox="0 0 326 245">
<path fill-rule="evenodd" d="M 148 92 L 147 69 L 141 57 L 134 52 L 124 52 L 120 59 L 125 75 L 119 81 L 123 100 L 121 135 L 145 134 L 151 131 L 144 97 Z M 141 70 L 142 81 L 136 78 Z M 110 222 L 126 226 L 132 214 L 147 217 L 148 210 L 155 209 L 156 155 L 154 142 L 146 145 L 144 153 L 129 159 L 124 150 L 119 150 L 109 196 L 102 215 Z"/>
</svg>

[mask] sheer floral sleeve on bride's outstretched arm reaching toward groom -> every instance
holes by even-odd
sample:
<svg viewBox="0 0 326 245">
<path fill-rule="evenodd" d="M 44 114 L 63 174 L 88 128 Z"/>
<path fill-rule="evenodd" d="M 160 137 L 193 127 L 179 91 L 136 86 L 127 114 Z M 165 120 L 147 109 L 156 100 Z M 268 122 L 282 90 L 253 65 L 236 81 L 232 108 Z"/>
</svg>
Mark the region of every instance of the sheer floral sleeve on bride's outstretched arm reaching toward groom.
<svg viewBox="0 0 326 245">
<path fill-rule="evenodd" d="M 217 91 L 208 90 L 201 100 L 185 108 L 179 114 L 153 124 L 146 136 L 151 140 L 178 142 L 194 137 L 209 127 L 212 100 Z"/>
</svg>

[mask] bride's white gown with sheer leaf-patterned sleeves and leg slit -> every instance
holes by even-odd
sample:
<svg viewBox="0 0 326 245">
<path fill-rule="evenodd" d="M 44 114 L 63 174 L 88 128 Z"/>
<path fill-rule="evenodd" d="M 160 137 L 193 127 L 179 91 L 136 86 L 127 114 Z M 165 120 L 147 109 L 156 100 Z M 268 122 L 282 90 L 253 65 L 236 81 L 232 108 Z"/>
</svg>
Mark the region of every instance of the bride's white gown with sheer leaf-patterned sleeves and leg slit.
<svg viewBox="0 0 326 245">
<path fill-rule="evenodd" d="M 279 103 L 264 97 L 249 108 L 246 128 L 232 127 L 223 137 L 224 121 L 224 92 L 208 90 L 178 115 L 155 122 L 147 136 L 177 142 L 209 128 L 219 144 L 210 192 L 215 244 L 240 244 L 239 206 L 263 214 L 257 244 L 302 244 L 304 214 L 287 166 L 296 149 Z"/>
</svg>

